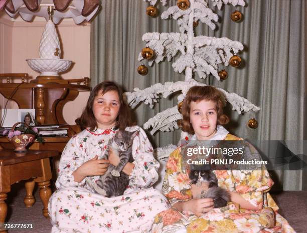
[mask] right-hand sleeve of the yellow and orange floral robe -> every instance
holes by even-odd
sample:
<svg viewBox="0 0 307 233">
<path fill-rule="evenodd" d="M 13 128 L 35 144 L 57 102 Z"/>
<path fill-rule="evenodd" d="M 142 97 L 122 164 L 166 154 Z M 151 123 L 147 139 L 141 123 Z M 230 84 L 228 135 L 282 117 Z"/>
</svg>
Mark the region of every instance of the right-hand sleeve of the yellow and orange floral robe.
<svg viewBox="0 0 307 233">
<path fill-rule="evenodd" d="M 250 144 L 245 147 L 245 159 L 261 160 L 257 150 Z M 253 170 L 233 170 L 235 190 L 252 205 L 262 207 L 264 195 L 274 184 L 264 165 L 259 165 Z"/>
</svg>

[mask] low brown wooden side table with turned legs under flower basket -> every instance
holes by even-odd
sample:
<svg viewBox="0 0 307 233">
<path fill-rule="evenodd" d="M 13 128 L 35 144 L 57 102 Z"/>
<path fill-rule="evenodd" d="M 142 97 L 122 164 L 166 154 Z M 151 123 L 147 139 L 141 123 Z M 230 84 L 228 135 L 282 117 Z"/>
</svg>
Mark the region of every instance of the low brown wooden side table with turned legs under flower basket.
<svg viewBox="0 0 307 233">
<path fill-rule="evenodd" d="M 5 222 L 8 205 L 5 200 L 11 191 L 11 185 L 20 180 L 26 182 L 27 195 L 24 199 L 27 207 L 34 204 L 33 189 L 35 182 L 40 188 L 40 198 L 44 204 L 43 215 L 48 217 L 48 201 L 51 196 L 52 178 L 49 157 L 57 156 L 56 150 L 28 150 L 17 153 L 12 149 L 0 150 L 0 222 Z M 0 232 L 7 232 L 0 229 Z"/>
</svg>

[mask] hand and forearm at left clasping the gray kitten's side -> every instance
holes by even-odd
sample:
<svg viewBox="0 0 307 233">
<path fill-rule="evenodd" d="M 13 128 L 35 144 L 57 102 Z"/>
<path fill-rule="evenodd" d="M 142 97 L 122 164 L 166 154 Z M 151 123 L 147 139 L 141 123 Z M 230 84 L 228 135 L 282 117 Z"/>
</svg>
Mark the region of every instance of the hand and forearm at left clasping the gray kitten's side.
<svg viewBox="0 0 307 233">
<path fill-rule="evenodd" d="M 105 159 L 98 159 L 96 155 L 94 158 L 86 161 L 72 175 L 76 182 L 81 182 L 86 176 L 104 175 L 107 171 L 110 161 Z"/>
</svg>

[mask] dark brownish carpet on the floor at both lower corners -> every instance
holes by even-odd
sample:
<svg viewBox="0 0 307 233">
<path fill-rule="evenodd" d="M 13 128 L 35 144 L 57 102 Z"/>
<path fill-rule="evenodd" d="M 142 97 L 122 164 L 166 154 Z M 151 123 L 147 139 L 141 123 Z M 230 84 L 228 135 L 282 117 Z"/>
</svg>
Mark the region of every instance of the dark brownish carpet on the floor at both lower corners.
<svg viewBox="0 0 307 233">
<path fill-rule="evenodd" d="M 30 208 L 24 204 L 26 195 L 24 182 L 12 185 L 8 195 L 8 216 L 10 223 L 32 223 L 33 229 L 15 229 L 9 232 L 19 233 L 50 233 L 50 219 L 42 214 L 43 204 L 39 197 L 39 190 L 35 187 L 36 202 Z M 297 233 L 305 233 L 305 219 L 307 217 L 307 191 L 283 191 L 271 193 L 280 207 L 279 213 L 284 216 Z"/>
</svg>

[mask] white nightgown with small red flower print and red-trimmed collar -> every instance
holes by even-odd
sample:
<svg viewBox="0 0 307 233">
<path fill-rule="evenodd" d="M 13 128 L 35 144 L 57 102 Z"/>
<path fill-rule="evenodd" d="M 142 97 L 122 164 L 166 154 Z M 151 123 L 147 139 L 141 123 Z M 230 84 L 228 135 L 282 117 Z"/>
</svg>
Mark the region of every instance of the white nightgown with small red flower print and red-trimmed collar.
<svg viewBox="0 0 307 233">
<path fill-rule="evenodd" d="M 84 162 L 96 155 L 102 157 L 116 130 L 85 129 L 69 140 L 59 164 L 58 190 L 49 200 L 52 233 L 147 232 L 155 215 L 170 207 L 161 192 L 151 187 L 158 180 L 160 164 L 145 132 L 138 126 L 126 130 L 139 132 L 133 139 L 134 168 L 129 186 L 117 197 L 96 194 L 85 179 L 75 182 L 72 175 Z M 90 178 L 95 181 L 99 176 Z"/>
</svg>

